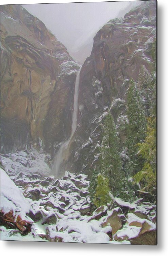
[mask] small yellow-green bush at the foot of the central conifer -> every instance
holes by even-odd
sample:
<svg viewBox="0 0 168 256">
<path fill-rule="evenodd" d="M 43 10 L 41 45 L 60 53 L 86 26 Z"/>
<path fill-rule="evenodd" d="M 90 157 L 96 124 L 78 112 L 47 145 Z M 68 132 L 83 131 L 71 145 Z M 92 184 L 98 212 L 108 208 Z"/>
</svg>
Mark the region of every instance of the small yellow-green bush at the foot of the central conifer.
<svg viewBox="0 0 168 256">
<path fill-rule="evenodd" d="M 98 185 L 96 187 L 96 193 L 94 196 L 93 203 L 96 207 L 101 205 L 107 205 L 110 202 L 109 186 L 108 186 L 108 178 L 105 178 L 102 174 L 99 174 L 98 177 Z"/>
</svg>

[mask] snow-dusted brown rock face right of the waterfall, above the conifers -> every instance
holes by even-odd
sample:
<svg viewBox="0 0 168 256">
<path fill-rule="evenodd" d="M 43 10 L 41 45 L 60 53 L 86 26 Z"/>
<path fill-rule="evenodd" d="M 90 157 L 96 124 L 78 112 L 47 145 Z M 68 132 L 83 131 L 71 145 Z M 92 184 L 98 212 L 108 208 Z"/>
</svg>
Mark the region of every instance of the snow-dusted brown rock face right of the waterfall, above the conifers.
<svg viewBox="0 0 168 256">
<path fill-rule="evenodd" d="M 110 20 L 97 32 L 91 55 L 80 73 L 78 129 L 69 158 L 71 163 L 75 159 L 74 166 L 69 164 L 73 170 L 88 173 L 93 165 L 105 112 L 110 110 L 116 125 L 121 121 L 118 117 L 124 117 L 129 79 L 137 83 L 141 83 L 140 77 L 151 81 L 156 69 L 155 49 L 155 1 L 144 1 L 124 19 Z M 124 134 L 119 137 L 124 142 Z"/>
</svg>

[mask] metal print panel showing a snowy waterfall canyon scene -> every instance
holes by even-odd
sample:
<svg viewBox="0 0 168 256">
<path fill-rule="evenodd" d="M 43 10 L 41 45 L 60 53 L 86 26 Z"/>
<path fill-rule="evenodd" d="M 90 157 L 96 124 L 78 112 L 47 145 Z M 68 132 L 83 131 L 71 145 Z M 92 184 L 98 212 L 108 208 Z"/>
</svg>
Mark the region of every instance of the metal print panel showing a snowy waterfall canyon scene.
<svg viewBox="0 0 168 256">
<path fill-rule="evenodd" d="M 157 244 L 156 13 L 1 5 L 1 240 Z"/>
</svg>

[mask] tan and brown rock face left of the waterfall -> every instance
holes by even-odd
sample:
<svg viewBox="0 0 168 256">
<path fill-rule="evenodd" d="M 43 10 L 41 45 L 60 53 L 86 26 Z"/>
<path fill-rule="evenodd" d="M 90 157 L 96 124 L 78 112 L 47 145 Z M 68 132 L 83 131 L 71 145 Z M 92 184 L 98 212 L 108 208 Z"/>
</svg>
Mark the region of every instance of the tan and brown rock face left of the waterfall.
<svg viewBox="0 0 168 256">
<path fill-rule="evenodd" d="M 77 63 L 21 5 L 1 6 L 1 151 L 70 134 Z"/>
</svg>

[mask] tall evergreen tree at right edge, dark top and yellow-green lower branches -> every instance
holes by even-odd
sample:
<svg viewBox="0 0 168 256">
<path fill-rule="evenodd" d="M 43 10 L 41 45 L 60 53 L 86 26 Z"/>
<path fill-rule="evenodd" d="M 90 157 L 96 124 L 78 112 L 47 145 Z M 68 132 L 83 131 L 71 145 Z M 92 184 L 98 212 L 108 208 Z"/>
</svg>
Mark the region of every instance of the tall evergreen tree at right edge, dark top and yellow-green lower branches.
<svg viewBox="0 0 168 256">
<path fill-rule="evenodd" d="M 138 143 L 138 155 L 144 159 L 142 169 L 134 175 L 134 181 L 140 183 L 142 191 L 156 197 L 156 79 L 149 84 L 151 91 L 150 108 L 147 123 L 147 136 L 143 143 Z"/>
</svg>

